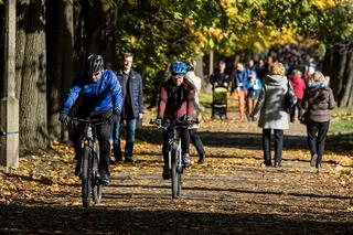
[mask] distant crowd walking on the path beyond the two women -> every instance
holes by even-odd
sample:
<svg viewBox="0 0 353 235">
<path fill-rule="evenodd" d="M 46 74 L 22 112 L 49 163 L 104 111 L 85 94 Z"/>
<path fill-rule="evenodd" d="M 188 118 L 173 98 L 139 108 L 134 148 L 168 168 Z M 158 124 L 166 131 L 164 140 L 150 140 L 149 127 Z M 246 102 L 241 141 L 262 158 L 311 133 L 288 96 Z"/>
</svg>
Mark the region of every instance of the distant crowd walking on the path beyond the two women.
<svg viewBox="0 0 353 235">
<path fill-rule="evenodd" d="M 257 57 L 257 60 L 255 58 Z M 300 50 L 298 45 L 277 45 L 267 52 L 264 56 L 254 56 L 246 62 L 237 61 L 233 64 L 232 71 L 227 73 L 225 61 L 221 60 L 214 73 L 210 76 L 210 84 L 213 88 L 214 97 L 217 97 L 216 87 L 223 86 L 233 94 L 236 90 L 238 97 L 239 120 L 257 120 L 250 118 L 250 114 L 256 106 L 259 94 L 263 89 L 263 81 L 270 73 L 270 66 L 274 62 L 280 62 L 285 67 L 285 75 L 289 78 L 295 89 L 298 103 L 291 109 L 290 120 L 296 121 L 295 115 L 298 111 L 298 118 L 301 115 L 301 100 L 303 90 L 307 87 L 309 78 L 314 71 L 320 67 L 320 63 L 310 57 L 309 51 Z M 224 97 L 225 98 L 225 97 Z M 214 105 L 212 106 L 212 119 L 215 118 Z M 220 117 L 226 117 L 226 110 L 220 114 Z"/>
</svg>

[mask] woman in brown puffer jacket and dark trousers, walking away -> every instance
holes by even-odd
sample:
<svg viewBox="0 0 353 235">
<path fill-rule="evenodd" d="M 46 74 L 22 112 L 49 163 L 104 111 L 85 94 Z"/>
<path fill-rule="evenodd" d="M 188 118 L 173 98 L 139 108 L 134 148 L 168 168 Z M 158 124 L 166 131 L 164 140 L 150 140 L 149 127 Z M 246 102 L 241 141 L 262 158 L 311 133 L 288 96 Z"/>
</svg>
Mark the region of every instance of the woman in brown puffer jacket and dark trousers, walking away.
<svg viewBox="0 0 353 235">
<path fill-rule="evenodd" d="M 332 89 L 328 87 L 328 84 L 321 72 L 314 72 L 309 81 L 302 104 L 302 108 L 307 110 L 306 122 L 311 153 L 310 164 L 318 170 L 321 168 L 324 141 L 331 120 L 330 109 L 335 106 Z"/>
</svg>

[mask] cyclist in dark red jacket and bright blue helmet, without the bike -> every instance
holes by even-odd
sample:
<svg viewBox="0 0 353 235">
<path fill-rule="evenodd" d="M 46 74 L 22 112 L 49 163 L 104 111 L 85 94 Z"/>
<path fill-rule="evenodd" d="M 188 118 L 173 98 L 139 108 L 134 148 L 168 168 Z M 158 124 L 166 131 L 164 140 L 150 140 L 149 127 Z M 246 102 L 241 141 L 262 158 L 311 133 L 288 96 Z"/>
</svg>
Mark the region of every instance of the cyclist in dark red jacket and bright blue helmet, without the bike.
<svg viewBox="0 0 353 235">
<path fill-rule="evenodd" d="M 195 92 L 191 84 L 184 79 L 188 72 L 188 65 L 183 62 L 173 62 L 170 65 L 171 76 L 161 85 L 160 103 L 158 109 L 157 125 L 162 120 L 186 120 L 192 121 L 194 111 Z M 188 127 L 180 129 L 182 161 L 185 168 L 192 165 L 190 160 L 190 133 Z M 163 131 L 163 179 L 170 179 L 169 159 L 168 159 L 168 131 Z"/>
</svg>

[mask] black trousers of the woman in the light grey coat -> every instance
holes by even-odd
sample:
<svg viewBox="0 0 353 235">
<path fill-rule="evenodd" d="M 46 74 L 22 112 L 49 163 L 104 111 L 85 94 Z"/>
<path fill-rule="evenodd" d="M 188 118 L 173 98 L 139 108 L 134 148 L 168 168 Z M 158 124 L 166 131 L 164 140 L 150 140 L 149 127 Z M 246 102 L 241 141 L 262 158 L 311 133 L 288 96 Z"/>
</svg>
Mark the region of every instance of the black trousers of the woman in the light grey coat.
<svg viewBox="0 0 353 235">
<path fill-rule="evenodd" d="M 275 162 L 280 163 L 284 146 L 284 130 L 274 129 L 275 132 Z M 271 129 L 263 129 L 263 149 L 265 163 L 271 162 Z"/>
</svg>

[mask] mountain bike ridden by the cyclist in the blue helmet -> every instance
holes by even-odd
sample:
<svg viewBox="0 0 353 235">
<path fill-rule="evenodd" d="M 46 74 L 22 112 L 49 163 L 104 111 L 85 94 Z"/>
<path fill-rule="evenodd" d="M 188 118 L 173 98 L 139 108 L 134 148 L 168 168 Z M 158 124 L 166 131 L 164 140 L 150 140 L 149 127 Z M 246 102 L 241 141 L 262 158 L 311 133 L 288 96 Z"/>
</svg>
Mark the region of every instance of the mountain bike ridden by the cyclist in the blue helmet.
<svg viewBox="0 0 353 235">
<path fill-rule="evenodd" d="M 197 120 L 193 120 L 192 124 Z M 157 125 L 156 120 L 150 120 L 150 124 Z M 182 174 L 184 172 L 184 165 L 182 162 L 182 151 L 181 151 L 181 138 L 180 129 L 188 128 L 190 125 L 185 121 L 179 120 L 163 120 L 158 128 L 168 132 L 168 165 L 171 172 L 171 183 L 172 183 L 172 197 L 178 199 L 181 196 L 182 190 Z"/>
</svg>

